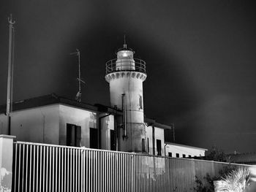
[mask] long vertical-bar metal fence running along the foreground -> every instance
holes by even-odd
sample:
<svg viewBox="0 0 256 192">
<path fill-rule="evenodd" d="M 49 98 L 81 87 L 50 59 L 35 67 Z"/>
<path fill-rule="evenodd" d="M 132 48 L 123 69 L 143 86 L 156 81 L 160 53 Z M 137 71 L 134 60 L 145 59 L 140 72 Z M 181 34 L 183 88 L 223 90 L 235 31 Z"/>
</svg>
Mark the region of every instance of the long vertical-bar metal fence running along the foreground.
<svg viewBox="0 0 256 192">
<path fill-rule="evenodd" d="M 193 191 L 225 164 L 107 150 L 14 143 L 12 191 Z"/>
</svg>

